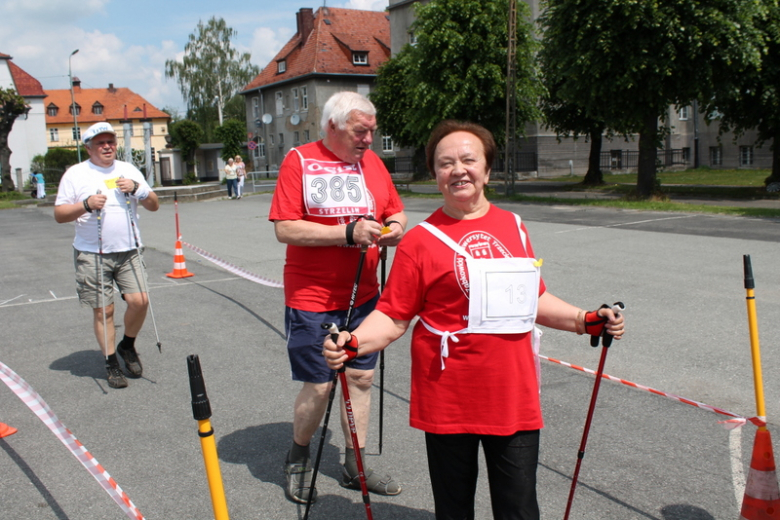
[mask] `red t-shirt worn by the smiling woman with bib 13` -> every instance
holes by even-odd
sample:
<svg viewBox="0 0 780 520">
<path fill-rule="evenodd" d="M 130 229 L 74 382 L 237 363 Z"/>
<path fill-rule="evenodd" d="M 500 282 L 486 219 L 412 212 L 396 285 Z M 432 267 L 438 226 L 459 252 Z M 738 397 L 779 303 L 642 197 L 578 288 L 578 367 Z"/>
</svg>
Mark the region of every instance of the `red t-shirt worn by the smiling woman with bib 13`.
<svg viewBox="0 0 780 520">
<path fill-rule="evenodd" d="M 534 257 L 530 240 L 522 245 L 514 215 L 495 206 L 474 220 L 453 219 L 439 209 L 427 221 L 467 250 Z M 524 225 L 522 229 L 527 235 Z M 429 231 L 419 226 L 409 230 L 377 310 L 400 320 L 419 315 L 439 331 L 466 328 L 468 288 L 459 259 Z M 539 294 L 544 291 L 542 281 Z M 449 340 L 442 370 L 441 336 L 418 323 L 412 336 L 411 426 L 437 434 L 486 435 L 541 428 L 532 334 L 460 334 L 458 342 Z"/>
</svg>

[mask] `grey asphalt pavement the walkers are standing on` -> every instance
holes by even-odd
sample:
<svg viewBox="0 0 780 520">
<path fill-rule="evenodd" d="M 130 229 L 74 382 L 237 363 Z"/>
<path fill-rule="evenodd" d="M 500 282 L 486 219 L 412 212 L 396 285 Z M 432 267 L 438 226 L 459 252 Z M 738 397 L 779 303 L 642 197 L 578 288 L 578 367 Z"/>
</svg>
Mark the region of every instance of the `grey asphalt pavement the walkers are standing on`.
<svg viewBox="0 0 780 520">
<path fill-rule="evenodd" d="M 281 281 L 284 247 L 267 220 L 270 199 L 255 194 L 180 203 L 182 238 Z M 411 223 L 440 205 L 435 199 L 405 203 Z M 780 435 L 780 221 L 500 205 L 528 226 L 553 294 L 588 309 L 626 303 L 626 337 L 610 349 L 606 373 L 744 417 L 756 415 L 742 270 L 743 255 L 750 255 L 769 429 Z M 289 376 L 282 290 L 238 277 L 186 247 L 186 267 L 194 276 L 167 277 L 173 270 L 174 210 L 166 204 L 139 219 L 162 353 L 149 316 L 137 342 L 144 377 L 122 390 L 107 387 L 91 312 L 75 296 L 72 224 L 56 224 L 51 207 L 0 212 L 0 361 L 41 395 L 145 518 L 207 519 L 214 515 L 186 368 L 186 357 L 197 354 L 231 518 L 302 518 L 303 508 L 283 493 L 298 385 Z M 122 311 L 119 304 L 118 322 Z M 381 456 L 378 389 L 374 394 L 368 463 L 404 486 L 397 497 L 371 496 L 378 520 L 434 518 L 423 434 L 408 426 L 408 348 L 407 334 L 386 353 Z M 542 354 L 595 369 L 600 350 L 586 338 L 546 330 Z M 538 490 L 544 519 L 563 517 L 593 381 L 581 371 L 542 363 L 545 428 Z M 725 418 L 605 380 L 571 518 L 738 517 L 755 427 L 727 430 L 718 424 Z M 2 384 L 0 421 L 19 429 L 0 439 L 0 517 L 126 516 Z M 775 439 L 775 452 L 778 446 Z M 338 485 L 341 457 L 337 429 L 326 438 L 312 520 L 365 518 L 360 493 Z M 476 518 L 491 518 L 484 471 Z"/>
</svg>

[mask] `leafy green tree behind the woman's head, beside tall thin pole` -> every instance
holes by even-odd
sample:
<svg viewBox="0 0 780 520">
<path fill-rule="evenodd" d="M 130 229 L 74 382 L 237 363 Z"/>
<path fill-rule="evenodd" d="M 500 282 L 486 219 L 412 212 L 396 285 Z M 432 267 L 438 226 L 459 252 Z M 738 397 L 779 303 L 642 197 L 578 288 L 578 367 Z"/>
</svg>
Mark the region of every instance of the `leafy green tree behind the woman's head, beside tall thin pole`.
<svg viewBox="0 0 780 520">
<path fill-rule="evenodd" d="M 506 122 L 507 0 L 437 0 L 416 7 L 407 45 L 380 67 L 371 99 L 378 124 L 418 150 L 443 119 L 480 123 L 496 141 Z M 540 88 L 528 6 L 518 2 L 517 119 L 534 120 Z"/>
</svg>

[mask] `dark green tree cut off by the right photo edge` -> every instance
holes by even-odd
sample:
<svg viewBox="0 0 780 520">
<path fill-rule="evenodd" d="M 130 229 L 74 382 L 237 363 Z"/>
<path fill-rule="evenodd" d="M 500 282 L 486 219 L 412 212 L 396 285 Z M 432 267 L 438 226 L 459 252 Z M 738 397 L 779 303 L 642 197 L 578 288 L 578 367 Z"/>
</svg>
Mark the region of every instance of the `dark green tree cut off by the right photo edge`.
<svg viewBox="0 0 780 520">
<path fill-rule="evenodd" d="M 733 131 L 738 138 L 747 130 L 758 132 L 758 146 L 770 142 L 772 173 L 766 183 L 780 182 L 780 6 L 765 2 L 765 17 L 757 21 L 765 46 L 759 66 L 749 67 L 739 78 L 737 88 L 719 90 L 709 104 L 710 114 L 718 114 L 720 134 Z"/>
</svg>

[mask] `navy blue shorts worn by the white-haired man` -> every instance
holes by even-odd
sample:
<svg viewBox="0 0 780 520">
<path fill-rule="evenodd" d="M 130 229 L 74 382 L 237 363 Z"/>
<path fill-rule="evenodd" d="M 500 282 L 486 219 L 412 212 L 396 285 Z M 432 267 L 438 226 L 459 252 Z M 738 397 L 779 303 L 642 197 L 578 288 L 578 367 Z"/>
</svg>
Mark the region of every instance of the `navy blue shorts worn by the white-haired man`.
<svg viewBox="0 0 780 520">
<path fill-rule="evenodd" d="M 377 294 L 371 300 L 352 311 L 349 328 L 355 330 L 368 316 L 379 300 Z M 284 309 L 284 329 L 287 332 L 287 354 L 290 357 L 293 381 L 304 383 L 328 383 L 335 372 L 328 368 L 322 355 L 322 344 L 328 331 L 323 323 L 341 325 L 346 321 L 347 311 L 310 312 L 291 307 Z M 353 359 L 347 366 L 356 370 L 373 370 L 378 352 Z"/>
</svg>

